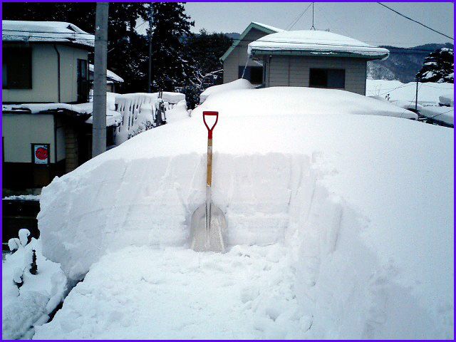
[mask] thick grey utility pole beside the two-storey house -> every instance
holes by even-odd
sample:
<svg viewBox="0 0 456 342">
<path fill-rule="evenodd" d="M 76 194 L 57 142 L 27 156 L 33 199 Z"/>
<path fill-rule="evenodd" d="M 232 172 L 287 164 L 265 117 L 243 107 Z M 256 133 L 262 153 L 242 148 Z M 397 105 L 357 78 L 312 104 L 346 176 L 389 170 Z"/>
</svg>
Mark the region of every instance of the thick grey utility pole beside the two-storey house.
<svg viewBox="0 0 456 342">
<path fill-rule="evenodd" d="M 107 2 L 97 3 L 95 16 L 95 62 L 93 67 L 92 157 L 106 150 L 106 67 L 108 54 Z"/>
</svg>

